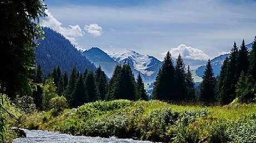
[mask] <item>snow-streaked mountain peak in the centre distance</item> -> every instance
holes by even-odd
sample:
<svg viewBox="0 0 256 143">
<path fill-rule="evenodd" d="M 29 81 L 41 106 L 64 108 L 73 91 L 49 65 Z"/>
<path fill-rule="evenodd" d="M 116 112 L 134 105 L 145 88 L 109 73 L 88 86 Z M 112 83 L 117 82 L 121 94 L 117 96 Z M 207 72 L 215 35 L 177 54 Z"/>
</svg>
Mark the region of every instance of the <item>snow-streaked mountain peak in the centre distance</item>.
<svg viewBox="0 0 256 143">
<path fill-rule="evenodd" d="M 133 50 L 124 49 L 117 53 L 110 54 L 110 57 L 117 63 L 129 63 L 135 77 L 141 73 L 144 82 L 153 82 L 156 78 L 162 62 L 150 55 L 141 55 Z"/>
</svg>

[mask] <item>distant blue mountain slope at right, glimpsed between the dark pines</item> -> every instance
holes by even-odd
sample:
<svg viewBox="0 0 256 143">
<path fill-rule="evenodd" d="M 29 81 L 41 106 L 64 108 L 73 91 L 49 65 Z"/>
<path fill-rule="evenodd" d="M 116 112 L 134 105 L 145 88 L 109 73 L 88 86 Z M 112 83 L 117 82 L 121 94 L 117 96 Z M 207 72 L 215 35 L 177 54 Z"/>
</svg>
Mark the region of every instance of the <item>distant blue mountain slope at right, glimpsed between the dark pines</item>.
<svg viewBox="0 0 256 143">
<path fill-rule="evenodd" d="M 253 43 L 245 45 L 249 50 L 252 49 Z M 218 76 L 220 73 L 221 65 L 224 62 L 226 57 L 229 57 L 230 54 L 224 54 L 224 55 L 219 55 L 218 57 L 215 57 L 214 59 L 211 60 L 211 66 L 213 67 L 213 73 L 214 76 Z M 205 63 L 206 64 L 206 63 Z M 193 78 L 195 82 L 200 82 L 204 75 L 204 70 L 205 70 L 205 65 L 201 65 L 199 68 L 195 69 L 193 73 Z"/>
</svg>

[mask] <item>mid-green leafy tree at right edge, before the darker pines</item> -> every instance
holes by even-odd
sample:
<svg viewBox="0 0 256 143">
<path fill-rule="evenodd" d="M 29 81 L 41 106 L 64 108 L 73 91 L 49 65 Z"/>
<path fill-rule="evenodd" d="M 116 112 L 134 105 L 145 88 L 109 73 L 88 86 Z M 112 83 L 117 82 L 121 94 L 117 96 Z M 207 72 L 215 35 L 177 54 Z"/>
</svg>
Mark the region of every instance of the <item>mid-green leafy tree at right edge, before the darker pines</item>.
<svg viewBox="0 0 256 143">
<path fill-rule="evenodd" d="M 250 103 L 256 97 L 254 95 L 254 83 L 252 76 L 247 76 L 243 71 L 236 85 L 235 93 L 237 93 L 239 103 Z"/>
</svg>

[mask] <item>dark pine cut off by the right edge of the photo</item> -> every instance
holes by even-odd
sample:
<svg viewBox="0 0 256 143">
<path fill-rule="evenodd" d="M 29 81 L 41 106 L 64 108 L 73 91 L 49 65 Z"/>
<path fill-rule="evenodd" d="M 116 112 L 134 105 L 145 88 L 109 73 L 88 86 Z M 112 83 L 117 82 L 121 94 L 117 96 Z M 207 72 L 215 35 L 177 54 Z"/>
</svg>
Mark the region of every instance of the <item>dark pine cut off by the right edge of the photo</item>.
<svg viewBox="0 0 256 143">
<path fill-rule="evenodd" d="M 252 75 L 254 82 L 256 82 L 256 36 L 254 38 L 252 50 L 250 51 L 249 63 L 248 73 Z"/>
</svg>

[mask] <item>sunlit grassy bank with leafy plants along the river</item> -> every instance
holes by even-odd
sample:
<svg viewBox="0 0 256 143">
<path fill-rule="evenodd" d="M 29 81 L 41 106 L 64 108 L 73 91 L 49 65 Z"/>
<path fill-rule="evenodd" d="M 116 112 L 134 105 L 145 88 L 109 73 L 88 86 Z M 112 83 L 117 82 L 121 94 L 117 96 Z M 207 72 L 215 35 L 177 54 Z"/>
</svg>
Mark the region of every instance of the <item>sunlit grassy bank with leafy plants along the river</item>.
<svg viewBox="0 0 256 143">
<path fill-rule="evenodd" d="M 256 140 L 255 111 L 255 104 L 205 107 L 157 100 L 97 101 L 59 115 L 33 113 L 23 127 L 162 142 L 250 142 Z"/>
</svg>

